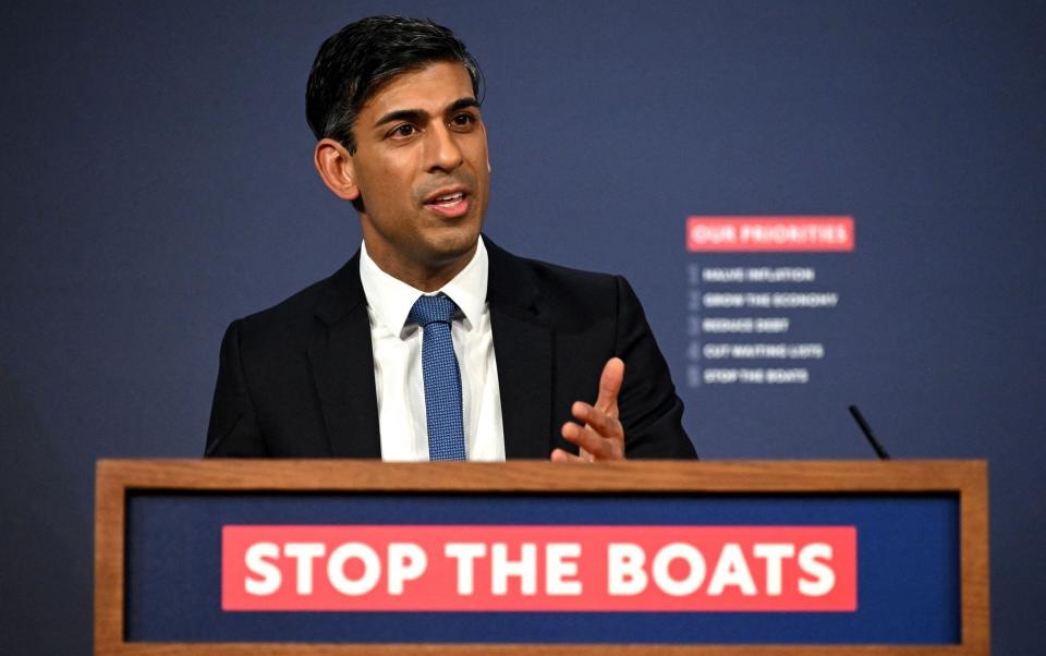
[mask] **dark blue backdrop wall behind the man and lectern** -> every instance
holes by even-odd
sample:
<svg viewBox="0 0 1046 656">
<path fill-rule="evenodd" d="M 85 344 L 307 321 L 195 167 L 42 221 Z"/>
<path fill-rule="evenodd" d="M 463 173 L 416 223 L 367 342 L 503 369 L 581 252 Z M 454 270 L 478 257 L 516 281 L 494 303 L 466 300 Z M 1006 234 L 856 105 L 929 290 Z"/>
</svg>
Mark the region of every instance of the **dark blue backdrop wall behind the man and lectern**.
<svg viewBox="0 0 1046 656">
<path fill-rule="evenodd" d="M 211 4 L 0 8 L 0 652 L 89 649 L 95 460 L 198 455 L 226 325 L 357 247 L 313 171 L 303 89 L 323 38 L 373 13 L 469 44 L 488 80 L 487 232 L 630 278 L 703 457 L 868 457 L 856 402 L 896 457 L 986 458 L 994 645 L 1039 648 L 1041 4 Z M 856 247 L 690 253 L 693 215 L 846 215 Z M 786 266 L 815 279 L 707 279 Z M 767 291 L 838 302 L 705 295 Z M 790 327 L 704 324 L 739 317 Z M 755 342 L 815 348 L 707 349 Z M 707 375 L 774 367 L 805 378 Z"/>
</svg>

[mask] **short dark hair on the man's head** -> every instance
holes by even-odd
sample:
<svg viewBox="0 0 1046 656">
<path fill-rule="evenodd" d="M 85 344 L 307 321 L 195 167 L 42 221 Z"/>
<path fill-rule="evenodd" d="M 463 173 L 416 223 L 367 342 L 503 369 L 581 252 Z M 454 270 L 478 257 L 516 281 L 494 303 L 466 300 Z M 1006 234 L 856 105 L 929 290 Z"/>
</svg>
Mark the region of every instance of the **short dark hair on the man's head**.
<svg viewBox="0 0 1046 656">
<path fill-rule="evenodd" d="M 372 16 L 345 25 L 319 47 L 305 87 L 305 118 L 317 139 L 355 153 L 352 134 L 363 105 L 385 82 L 437 61 L 457 61 L 479 100 L 483 74 L 465 45 L 429 20 Z"/>
</svg>

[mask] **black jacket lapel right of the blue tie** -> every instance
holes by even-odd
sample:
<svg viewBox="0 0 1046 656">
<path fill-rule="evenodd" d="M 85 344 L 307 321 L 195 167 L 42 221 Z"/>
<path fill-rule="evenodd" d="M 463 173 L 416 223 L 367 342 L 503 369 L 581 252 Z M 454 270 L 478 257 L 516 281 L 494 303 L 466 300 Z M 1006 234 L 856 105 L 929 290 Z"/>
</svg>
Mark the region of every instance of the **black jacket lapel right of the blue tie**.
<svg viewBox="0 0 1046 656">
<path fill-rule="evenodd" d="M 519 259 L 484 238 L 490 258 L 487 301 L 498 363 L 507 459 L 547 459 L 552 430 L 552 331 L 537 281 Z"/>
</svg>

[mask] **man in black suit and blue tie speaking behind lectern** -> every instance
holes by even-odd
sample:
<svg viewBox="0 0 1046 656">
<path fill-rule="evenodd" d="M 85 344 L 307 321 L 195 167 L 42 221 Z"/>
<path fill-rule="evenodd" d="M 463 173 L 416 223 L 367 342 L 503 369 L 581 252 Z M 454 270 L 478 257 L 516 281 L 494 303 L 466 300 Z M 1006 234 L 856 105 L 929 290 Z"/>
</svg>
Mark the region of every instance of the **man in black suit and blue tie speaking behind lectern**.
<svg viewBox="0 0 1046 656">
<path fill-rule="evenodd" d="M 481 238 L 479 82 L 464 45 L 426 21 L 365 19 L 320 47 L 306 93 L 316 170 L 364 243 L 229 327 L 208 455 L 695 457 L 624 279 Z"/>
</svg>

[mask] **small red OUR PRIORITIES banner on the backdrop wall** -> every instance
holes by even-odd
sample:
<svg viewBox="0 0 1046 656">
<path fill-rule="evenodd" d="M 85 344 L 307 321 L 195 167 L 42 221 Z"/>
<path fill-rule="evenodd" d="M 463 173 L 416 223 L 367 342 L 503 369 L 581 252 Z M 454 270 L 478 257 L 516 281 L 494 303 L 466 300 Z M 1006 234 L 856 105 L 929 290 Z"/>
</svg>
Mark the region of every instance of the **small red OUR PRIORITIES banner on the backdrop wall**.
<svg viewBox="0 0 1046 656">
<path fill-rule="evenodd" d="M 853 251 L 853 217 L 690 217 L 693 252 Z"/>
</svg>

